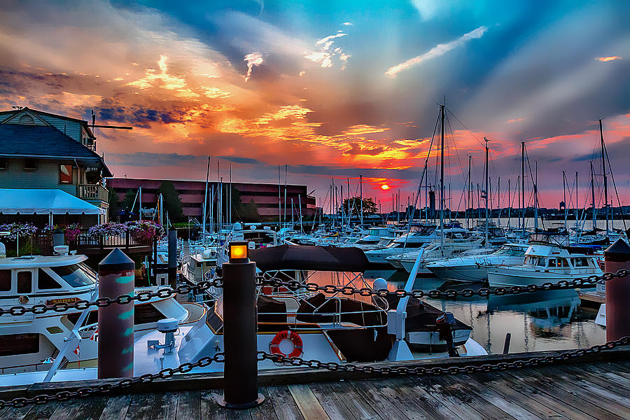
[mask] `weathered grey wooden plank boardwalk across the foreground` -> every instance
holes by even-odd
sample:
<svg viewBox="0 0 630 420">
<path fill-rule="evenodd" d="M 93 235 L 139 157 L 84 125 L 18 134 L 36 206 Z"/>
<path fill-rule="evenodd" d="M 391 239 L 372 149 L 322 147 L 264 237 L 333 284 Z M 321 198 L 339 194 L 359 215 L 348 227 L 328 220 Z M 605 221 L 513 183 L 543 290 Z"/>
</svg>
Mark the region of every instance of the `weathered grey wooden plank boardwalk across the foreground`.
<svg viewBox="0 0 630 420">
<path fill-rule="evenodd" d="M 396 365 L 449 367 L 559 354 L 513 353 Z M 374 366 L 391 363 L 372 363 Z M 367 377 L 286 367 L 260 371 L 265 402 L 246 410 L 220 407 L 222 374 L 181 374 L 125 388 L 124 393 L 0 409 L 0 419 L 630 419 L 630 347 L 561 365 L 503 372 Z M 71 391 L 117 379 L 0 388 L 0 398 Z"/>
</svg>

